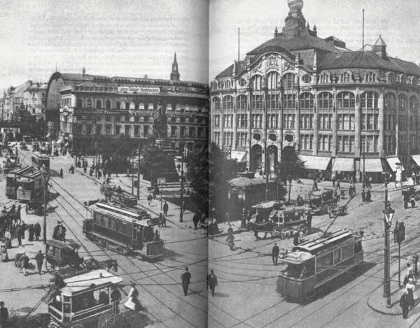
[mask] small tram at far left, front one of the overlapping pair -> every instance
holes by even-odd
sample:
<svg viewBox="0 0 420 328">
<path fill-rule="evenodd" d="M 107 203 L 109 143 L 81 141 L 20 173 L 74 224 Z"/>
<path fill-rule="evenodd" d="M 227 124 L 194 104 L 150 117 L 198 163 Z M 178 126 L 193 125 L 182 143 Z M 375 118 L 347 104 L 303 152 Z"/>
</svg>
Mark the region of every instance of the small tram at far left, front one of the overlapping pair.
<svg viewBox="0 0 420 328">
<path fill-rule="evenodd" d="M 17 199 L 22 202 L 30 202 L 41 199 L 43 195 L 44 177 L 42 171 L 21 176 L 18 178 Z"/>
</svg>

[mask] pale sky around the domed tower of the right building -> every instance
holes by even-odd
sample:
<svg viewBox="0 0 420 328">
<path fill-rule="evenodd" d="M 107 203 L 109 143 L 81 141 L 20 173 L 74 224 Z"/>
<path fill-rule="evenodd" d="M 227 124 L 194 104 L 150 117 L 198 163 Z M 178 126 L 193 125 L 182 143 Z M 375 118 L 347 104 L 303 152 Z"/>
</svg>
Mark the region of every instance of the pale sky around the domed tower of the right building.
<svg viewBox="0 0 420 328">
<path fill-rule="evenodd" d="M 304 0 L 302 13 L 318 36 L 336 36 L 347 48 L 362 48 L 362 10 L 365 9 L 365 43 L 373 44 L 379 34 L 388 55 L 420 62 L 418 0 Z M 233 64 L 281 31 L 288 15 L 287 0 L 210 0 L 209 78 Z"/>
</svg>

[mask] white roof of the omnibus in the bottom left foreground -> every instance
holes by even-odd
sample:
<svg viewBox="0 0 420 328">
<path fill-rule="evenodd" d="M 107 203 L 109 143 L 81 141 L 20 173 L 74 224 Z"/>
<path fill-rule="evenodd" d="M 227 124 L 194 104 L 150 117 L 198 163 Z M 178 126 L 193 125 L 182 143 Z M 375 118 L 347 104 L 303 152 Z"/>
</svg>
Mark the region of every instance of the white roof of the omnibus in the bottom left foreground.
<svg viewBox="0 0 420 328">
<path fill-rule="evenodd" d="M 66 286 L 62 287 L 61 292 L 66 296 L 71 296 L 76 292 L 96 289 L 102 285 L 118 284 L 122 281 L 122 278 L 113 273 L 99 269 L 64 279 Z"/>
</svg>

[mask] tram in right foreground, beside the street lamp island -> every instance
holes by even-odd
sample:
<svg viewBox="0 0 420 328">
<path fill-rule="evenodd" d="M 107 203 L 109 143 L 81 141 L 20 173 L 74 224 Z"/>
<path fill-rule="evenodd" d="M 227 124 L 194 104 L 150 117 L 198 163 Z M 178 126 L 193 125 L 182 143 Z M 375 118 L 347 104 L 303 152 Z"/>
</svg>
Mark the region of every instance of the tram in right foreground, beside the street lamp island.
<svg viewBox="0 0 420 328">
<path fill-rule="evenodd" d="M 301 243 L 279 258 L 286 269 L 277 291 L 292 301 L 307 301 L 323 285 L 363 262 L 362 236 L 347 229 Z"/>
</svg>

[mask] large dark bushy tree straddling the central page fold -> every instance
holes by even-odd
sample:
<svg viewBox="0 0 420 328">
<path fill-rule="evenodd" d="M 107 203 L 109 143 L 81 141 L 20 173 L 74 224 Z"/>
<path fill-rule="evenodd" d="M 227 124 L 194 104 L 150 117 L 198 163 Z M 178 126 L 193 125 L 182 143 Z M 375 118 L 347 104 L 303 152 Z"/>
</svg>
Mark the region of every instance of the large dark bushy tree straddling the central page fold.
<svg viewBox="0 0 420 328">
<path fill-rule="evenodd" d="M 187 178 L 193 190 L 191 197 L 200 211 L 209 213 L 211 206 L 216 213 L 223 213 L 228 203 L 228 180 L 235 178 L 239 164 L 234 159 L 228 159 L 227 153 L 215 143 L 189 155 L 186 164 Z"/>
</svg>

